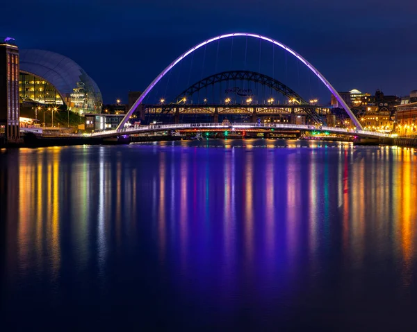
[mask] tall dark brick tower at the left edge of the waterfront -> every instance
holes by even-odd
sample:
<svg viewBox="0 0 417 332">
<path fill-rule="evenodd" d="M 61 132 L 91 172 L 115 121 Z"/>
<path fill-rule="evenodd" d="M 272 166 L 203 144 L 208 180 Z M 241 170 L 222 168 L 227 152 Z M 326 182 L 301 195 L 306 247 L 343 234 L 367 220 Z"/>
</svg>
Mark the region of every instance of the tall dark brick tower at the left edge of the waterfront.
<svg viewBox="0 0 417 332">
<path fill-rule="evenodd" d="M 0 44 L 0 130 L 6 141 L 20 140 L 19 49 L 9 37 Z"/>
</svg>

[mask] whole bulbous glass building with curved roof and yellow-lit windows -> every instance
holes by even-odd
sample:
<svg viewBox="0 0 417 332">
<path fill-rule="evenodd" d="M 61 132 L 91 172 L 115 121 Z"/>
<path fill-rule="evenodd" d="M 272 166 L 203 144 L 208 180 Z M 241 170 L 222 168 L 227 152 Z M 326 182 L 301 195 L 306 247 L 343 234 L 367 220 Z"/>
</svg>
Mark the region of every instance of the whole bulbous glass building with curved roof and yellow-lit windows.
<svg viewBox="0 0 417 332">
<path fill-rule="evenodd" d="M 61 106 L 79 114 L 100 113 L 97 84 L 73 60 L 38 49 L 20 50 L 19 102 Z"/>
</svg>

